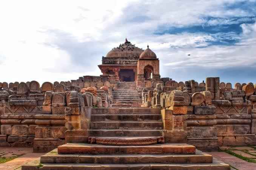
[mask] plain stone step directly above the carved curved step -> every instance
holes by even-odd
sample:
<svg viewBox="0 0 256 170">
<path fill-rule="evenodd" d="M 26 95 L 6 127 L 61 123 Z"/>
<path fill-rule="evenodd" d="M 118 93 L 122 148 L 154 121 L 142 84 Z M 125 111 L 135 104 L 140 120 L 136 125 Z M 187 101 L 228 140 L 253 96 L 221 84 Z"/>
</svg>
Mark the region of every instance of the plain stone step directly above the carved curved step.
<svg viewBox="0 0 256 170">
<path fill-rule="evenodd" d="M 136 129 L 89 129 L 91 137 L 151 137 L 162 136 L 162 130 Z"/>
</svg>

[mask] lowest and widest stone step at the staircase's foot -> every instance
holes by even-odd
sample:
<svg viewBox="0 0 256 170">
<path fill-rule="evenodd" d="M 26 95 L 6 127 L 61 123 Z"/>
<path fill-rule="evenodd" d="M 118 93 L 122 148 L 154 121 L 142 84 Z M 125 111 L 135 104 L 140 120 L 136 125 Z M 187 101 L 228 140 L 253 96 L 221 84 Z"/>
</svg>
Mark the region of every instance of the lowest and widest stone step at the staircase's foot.
<svg viewBox="0 0 256 170">
<path fill-rule="evenodd" d="M 41 164 L 27 162 L 22 170 L 230 170 L 219 160 L 203 164 Z"/>
</svg>

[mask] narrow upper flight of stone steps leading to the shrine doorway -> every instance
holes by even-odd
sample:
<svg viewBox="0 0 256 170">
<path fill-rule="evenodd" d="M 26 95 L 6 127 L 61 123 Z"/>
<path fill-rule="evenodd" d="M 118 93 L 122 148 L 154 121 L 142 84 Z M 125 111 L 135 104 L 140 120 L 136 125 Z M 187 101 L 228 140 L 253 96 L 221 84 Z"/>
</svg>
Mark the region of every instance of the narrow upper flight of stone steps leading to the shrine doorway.
<svg viewBox="0 0 256 170">
<path fill-rule="evenodd" d="M 137 91 L 136 82 L 118 82 L 113 91 L 115 108 L 136 108 L 142 105 L 142 99 Z"/>
</svg>

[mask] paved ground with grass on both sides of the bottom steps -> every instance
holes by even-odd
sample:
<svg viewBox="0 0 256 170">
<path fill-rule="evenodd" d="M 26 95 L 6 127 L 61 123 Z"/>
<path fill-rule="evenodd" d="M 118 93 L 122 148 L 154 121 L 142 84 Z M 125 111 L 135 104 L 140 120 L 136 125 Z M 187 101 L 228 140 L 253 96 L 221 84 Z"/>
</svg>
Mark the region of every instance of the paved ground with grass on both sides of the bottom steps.
<svg viewBox="0 0 256 170">
<path fill-rule="evenodd" d="M 256 170 L 256 163 L 253 163 L 256 162 L 256 146 L 220 147 L 220 150 L 225 152 L 207 153 L 213 155 L 214 159 L 231 165 L 233 170 Z M 44 154 L 33 153 L 32 148 L 0 147 L 0 169 L 20 170 L 24 162 L 39 160 Z"/>
</svg>

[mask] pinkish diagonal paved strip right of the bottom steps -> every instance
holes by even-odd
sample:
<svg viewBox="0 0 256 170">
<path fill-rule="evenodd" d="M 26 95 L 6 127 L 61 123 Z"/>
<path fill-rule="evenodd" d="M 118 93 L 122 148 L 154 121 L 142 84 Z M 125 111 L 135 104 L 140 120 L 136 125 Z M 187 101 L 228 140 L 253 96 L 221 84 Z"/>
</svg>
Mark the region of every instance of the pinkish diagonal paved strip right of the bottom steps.
<svg viewBox="0 0 256 170">
<path fill-rule="evenodd" d="M 256 170 L 256 163 L 244 161 L 226 152 L 207 152 L 207 153 L 214 156 L 214 158 L 219 159 L 238 170 Z"/>
</svg>

